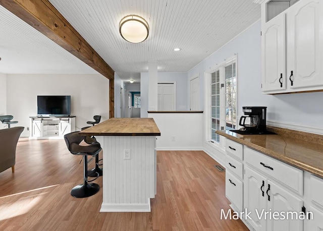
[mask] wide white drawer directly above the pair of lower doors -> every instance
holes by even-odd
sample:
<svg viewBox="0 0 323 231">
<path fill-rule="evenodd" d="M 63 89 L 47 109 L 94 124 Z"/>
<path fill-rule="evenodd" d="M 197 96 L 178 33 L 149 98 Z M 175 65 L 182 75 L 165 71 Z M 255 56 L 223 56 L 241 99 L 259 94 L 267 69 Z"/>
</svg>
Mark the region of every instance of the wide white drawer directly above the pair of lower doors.
<svg viewBox="0 0 323 231">
<path fill-rule="evenodd" d="M 280 160 L 244 147 L 245 161 L 265 172 L 269 177 L 281 182 L 299 195 L 303 195 L 303 170 Z"/>
</svg>

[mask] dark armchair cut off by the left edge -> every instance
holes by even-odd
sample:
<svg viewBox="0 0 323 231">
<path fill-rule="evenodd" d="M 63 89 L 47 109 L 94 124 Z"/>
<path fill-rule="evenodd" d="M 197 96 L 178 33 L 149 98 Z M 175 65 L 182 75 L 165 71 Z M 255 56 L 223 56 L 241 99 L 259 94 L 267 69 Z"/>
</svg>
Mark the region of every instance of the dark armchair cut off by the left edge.
<svg viewBox="0 0 323 231">
<path fill-rule="evenodd" d="M 11 167 L 15 172 L 16 147 L 24 127 L 0 130 L 0 172 Z"/>
</svg>

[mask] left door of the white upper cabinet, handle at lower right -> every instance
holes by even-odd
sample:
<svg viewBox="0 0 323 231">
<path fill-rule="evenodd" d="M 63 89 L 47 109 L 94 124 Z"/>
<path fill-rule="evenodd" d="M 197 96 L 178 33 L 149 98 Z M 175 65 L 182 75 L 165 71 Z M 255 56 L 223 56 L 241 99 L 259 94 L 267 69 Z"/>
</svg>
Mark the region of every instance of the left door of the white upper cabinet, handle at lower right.
<svg viewBox="0 0 323 231">
<path fill-rule="evenodd" d="M 261 28 L 262 91 L 286 89 L 286 15 Z"/>
</svg>

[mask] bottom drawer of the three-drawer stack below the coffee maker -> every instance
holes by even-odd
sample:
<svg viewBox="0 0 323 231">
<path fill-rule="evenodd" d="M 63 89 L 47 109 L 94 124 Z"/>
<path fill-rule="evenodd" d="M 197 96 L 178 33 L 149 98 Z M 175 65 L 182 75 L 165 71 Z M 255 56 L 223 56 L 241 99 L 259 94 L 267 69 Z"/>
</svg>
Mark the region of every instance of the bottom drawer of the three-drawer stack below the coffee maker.
<svg viewBox="0 0 323 231">
<path fill-rule="evenodd" d="M 226 197 L 239 211 L 242 211 L 242 190 L 242 181 L 226 171 Z"/>
</svg>

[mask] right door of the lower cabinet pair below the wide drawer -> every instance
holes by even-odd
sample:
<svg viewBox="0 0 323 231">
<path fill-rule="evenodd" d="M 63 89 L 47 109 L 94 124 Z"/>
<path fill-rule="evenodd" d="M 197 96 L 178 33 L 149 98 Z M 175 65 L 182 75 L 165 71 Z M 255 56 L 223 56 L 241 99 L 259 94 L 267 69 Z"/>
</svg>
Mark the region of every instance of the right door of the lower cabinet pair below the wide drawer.
<svg viewBox="0 0 323 231">
<path fill-rule="evenodd" d="M 303 201 L 281 186 L 267 180 L 267 211 L 275 217 L 266 217 L 268 231 L 301 231 L 303 230 L 303 220 L 298 219 L 302 211 Z"/>
</svg>

